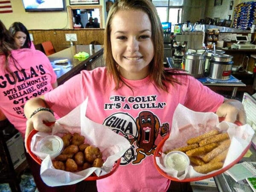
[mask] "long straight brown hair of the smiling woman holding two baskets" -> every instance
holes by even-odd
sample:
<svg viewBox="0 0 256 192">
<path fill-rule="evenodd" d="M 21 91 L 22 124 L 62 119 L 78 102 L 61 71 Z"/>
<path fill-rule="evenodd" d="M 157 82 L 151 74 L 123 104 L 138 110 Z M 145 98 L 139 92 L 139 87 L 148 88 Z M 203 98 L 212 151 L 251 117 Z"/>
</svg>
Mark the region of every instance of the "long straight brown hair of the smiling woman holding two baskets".
<svg viewBox="0 0 256 192">
<path fill-rule="evenodd" d="M 141 10 L 145 12 L 151 21 L 152 30 L 152 41 L 154 45 L 154 57 L 149 64 L 149 76 L 151 81 L 153 81 L 157 87 L 164 91 L 167 90 L 165 84 L 166 81 L 171 83 L 179 83 L 177 79 L 174 79 L 170 74 L 179 74 L 177 70 L 164 70 L 163 66 L 163 28 L 161 21 L 157 15 L 157 10 L 153 3 L 149 0 L 118 0 L 111 6 L 108 13 L 108 19 L 105 27 L 105 37 L 104 37 L 104 60 L 108 70 L 109 77 L 113 76 L 116 84 L 116 89 L 120 88 L 120 83 L 125 84 L 122 80 L 116 61 L 113 58 L 111 50 L 110 34 L 111 34 L 111 24 L 113 17 L 116 12 L 128 11 L 128 10 Z"/>
</svg>

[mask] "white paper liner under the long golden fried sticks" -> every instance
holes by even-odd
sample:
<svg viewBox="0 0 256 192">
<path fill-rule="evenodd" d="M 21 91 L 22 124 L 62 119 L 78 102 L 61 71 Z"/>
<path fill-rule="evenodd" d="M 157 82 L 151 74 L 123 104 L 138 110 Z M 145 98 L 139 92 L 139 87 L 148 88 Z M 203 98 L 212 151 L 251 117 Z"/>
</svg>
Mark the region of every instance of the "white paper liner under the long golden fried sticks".
<svg viewBox="0 0 256 192">
<path fill-rule="evenodd" d="M 186 146 L 186 141 L 188 139 L 212 130 L 215 125 L 219 131 L 227 131 L 231 139 L 227 157 L 222 168 L 224 169 L 226 166 L 233 163 L 250 144 L 254 131 L 248 124 L 238 126 L 234 123 L 224 121 L 219 123 L 218 116 L 212 112 L 195 112 L 179 104 L 175 109 L 173 116 L 171 134 L 165 141 L 162 151 Z M 157 165 L 166 172 L 166 175 L 170 175 L 171 177 L 175 177 L 179 180 L 210 175 L 218 171 L 215 170 L 207 174 L 201 174 L 195 172 L 193 167 L 190 165 L 183 175 L 177 177 L 177 171 L 175 169 L 166 168 L 164 166 L 163 158 L 165 155 L 166 154 L 162 153 L 161 157 L 156 157 Z"/>
</svg>

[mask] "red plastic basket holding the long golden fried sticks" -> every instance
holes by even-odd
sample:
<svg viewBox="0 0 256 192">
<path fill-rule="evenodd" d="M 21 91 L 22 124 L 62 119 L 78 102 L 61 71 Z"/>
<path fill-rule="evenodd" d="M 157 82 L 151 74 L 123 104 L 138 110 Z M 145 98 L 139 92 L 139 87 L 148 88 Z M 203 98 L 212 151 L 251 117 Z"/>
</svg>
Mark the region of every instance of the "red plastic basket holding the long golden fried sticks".
<svg viewBox="0 0 256 192">
<path fill-rule="evenodd" d="M 219 118 L 219 121 L 223 121 L 224 118 L 223 117 L 220 117 Z M 241 122 L 239 121 L 236 121 L 235 122 L 236 125 L 239 125 L 241 126 Z M 157 171 L 163 175 L 164 177 L 168 178 L 169 180 L 174 180 L 174 181 L 179 181 L 179 182 L 192 182 L 192 181 L 197 181 L 197 180 L 203 180 L 203 179 L 207 179 L 207 178 L 210 178 L 210 177 L 214 177 L 216 175 L 219 175 L 225 171 L 227 171 L 227 169 L 230 169 L 232 166 L 234 166 L 236 163 L 239 162 L 239 160 L 241 160 L 241 158 L 244 157 L 244 155 L 246 154 L 246 152 L 248 151 L 248 149 L 250 148 L 250 144 L 244 149 L 244 151 L 241 153 L 241 155 L 236 158 L 236 160 L 234 160 L 232 163 L 230 163 L 228 166 L 224 167 L 223 169 L 220 169 L 216 172 L 213 172 L 212 174 L 209 174 L 209 175 L 204 175 L 204 176 L 201 176 L 201 177 L 191 177 L 191 178 L 185 178 L 183 180 L 179 180 L 178 178 L 176 177 L 172 177 L 170 175 L 168 175 L 166 172 L 164 172 L 158 165 L 157 165 L 157 161 L 156 161 L 156 157 L 161 157 L 163 151 L 162 151 L 162 148 L 163 148 L 163 145 L 165 143 L 165 141 L 169 138 L 169 135 L 167 135 L 158 145 L 157 145 L 157 148 L 154 152 L 154 165 L 155 167 L 157 168 Z"/>
</svg>

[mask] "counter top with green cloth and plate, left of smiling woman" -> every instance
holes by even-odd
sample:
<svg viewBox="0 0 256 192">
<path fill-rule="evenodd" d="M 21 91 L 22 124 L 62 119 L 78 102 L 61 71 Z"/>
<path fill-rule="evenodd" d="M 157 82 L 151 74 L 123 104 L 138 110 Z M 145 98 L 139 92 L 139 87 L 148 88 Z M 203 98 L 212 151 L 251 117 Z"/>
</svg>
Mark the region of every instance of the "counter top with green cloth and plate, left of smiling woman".
<svg viewBox="0 0 256 192">
<path fill-rule="evenodd" d="M 103 54 L 103 47 L 101 45 L 95 45 L 94 47 L 95 49 L 92 51 L 89 45 L 75 45 L 48 56 L 57 75 L 58 84 L 63 84 L 64 81 L 80 73 L 81 70 L 90 69 L 87 64 Z M 87 52 L 89 57 L 84 59 L 74 58 L 74 55 L 79 52 Z M 54 61 L 60 59 L 68 59 L 68 62 L 65 64 L 55 64 Z"/>
</svg>

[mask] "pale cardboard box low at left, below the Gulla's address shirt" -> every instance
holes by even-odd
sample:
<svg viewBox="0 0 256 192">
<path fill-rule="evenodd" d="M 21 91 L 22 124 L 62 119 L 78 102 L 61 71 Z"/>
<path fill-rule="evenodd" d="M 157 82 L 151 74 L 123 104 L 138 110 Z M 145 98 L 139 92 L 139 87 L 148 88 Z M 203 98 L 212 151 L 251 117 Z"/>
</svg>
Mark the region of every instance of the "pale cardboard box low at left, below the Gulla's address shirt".
<svg viewBox="0 0 256 192">
<path fill-rule="evenodd" d="M 6 145 L 12 158 L 14 169 L 16 169 L 26 160 L 23 138 L 20 133 L 15 134 L 11 139 L 6 141 Z"/>
</svg>

